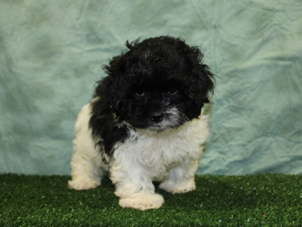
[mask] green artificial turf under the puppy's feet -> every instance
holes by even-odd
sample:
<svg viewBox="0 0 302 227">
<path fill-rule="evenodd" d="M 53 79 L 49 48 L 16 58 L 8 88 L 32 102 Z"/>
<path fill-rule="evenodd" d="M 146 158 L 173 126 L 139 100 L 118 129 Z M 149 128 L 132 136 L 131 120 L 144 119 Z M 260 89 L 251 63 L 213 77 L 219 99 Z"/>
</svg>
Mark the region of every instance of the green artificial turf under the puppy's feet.
<svg viewBox="0 0 302 227">
<path fill-rule="evenodd" d="M 302 176 L 196 177 L 186 194 L 161 191 L 164 205 L 118 206 L 108 178 L 91 191 L 67 176 L 0 175 L 0 226 L 302 226 Z"/>
</svg>

